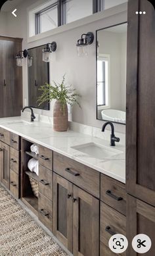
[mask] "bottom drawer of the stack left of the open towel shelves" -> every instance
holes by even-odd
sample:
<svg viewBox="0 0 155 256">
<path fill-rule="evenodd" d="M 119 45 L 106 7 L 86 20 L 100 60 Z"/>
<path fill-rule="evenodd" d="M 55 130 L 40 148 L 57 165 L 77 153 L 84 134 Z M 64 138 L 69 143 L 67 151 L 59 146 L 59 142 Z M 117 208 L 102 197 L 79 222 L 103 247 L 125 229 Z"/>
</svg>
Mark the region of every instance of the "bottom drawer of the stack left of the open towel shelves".
<svg viewBox="0 0 155 256">
<path fill-rule="evenodd" d="M 19 198 L 19 176 L 10 170 L 10 190 L 14 197 Z"/>
</svg>

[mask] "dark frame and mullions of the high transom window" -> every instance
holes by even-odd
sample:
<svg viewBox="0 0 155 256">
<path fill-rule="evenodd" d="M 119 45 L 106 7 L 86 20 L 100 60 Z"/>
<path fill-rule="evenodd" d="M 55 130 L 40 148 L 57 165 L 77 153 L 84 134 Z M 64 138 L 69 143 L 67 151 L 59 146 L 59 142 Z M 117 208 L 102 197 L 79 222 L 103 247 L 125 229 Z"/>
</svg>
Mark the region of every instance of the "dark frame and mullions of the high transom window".
<svg viewBox="0 0 155 256">
<path fill-rule="evenodd" d="M 52 9 L 57 6 L 58 10 L 58 27 L 66 24 L 66 3 L 71 0 L 58 0 L 52 5 L 41 9 L 39 12 L 35 13 L 35 36 L 41 34 L 41 22 L 40 17 L 45 11 Z M 99 13 L 104 10 L 104 0 L 93 0 L 93 13 Z"/>
</svg>

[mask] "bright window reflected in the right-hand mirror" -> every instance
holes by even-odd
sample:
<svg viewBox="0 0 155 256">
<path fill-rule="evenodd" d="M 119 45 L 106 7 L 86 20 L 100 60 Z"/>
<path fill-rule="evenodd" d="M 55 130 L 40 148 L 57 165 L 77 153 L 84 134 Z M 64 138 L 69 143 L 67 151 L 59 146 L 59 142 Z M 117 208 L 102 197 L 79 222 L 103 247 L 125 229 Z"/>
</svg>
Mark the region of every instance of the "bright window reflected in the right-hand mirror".
<svg viewBox="0 0 155 256">
<path fill-rule="evenodd" d="M 110 107 L 110 56 L 97 60 L 97 105 Z"/>
</svg>

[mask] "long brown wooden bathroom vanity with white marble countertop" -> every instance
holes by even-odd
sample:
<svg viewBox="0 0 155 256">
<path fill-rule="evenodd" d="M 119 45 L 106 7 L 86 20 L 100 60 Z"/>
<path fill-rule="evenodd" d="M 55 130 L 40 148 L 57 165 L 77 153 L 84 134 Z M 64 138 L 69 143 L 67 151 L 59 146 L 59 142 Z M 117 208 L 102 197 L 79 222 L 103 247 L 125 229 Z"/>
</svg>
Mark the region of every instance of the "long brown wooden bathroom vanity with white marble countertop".
<svg viewBox="0 0 155 256">
<path fill-rule="evenodd" d="M 52 138 L 53 145 L 51 138 L 48 138 L 47 147 L 45 141 L 43 143 L 46 139 L 40 140 L 33 136 L 32 140 L 26 135 L 26 128 L 30 128 L 33 134 L 40 131 L 39 122 L 27 124 L 18 118 L 18 122 L 9 124 L 6 121 L 0 126 L 3 127 L 0 128 L 2 184 L 11 190 L 15 198 L 20 198 L 74 255 L 113 255 L 108 249 L 110 236 L 114 233 L 126 234 L 125 184 L 119 178 L 116 180 L 110 177 L 110 172 L 107 176 L 108 172 L 104 169 L 101 171 L 101 167 L 99 171 L 92 168 L 90 163 L 80 163 L 82 154 L 78 155 L 76 144 L 79 144 L 78 141 L 92 143 L 91 136 L 72 131 L 56 133 L 57 137 Z M 60 148 L 56 149 L 56 141 L 58 143 L 60 140 L 63 147 L 63 141 L 75 140 L 75 136 L 79 136 L 79 140 L 74 143 L 73 149 L 68 149 L 74 156 L 71 157 L 69 151 L 65 153 L 63 148 L 61 152 Z M 33 143 L 39 146 L 39 155 L 30 151 Z M 105 143 L 104 150 L 110 149 L 109 141 Z M 120 153 L 120 159 L 124 156 L 123 147 L 119 148 L 121 150 L 118 148 L 110 151 L 114 161 L 117 155 L 114 155 L 114 150 Z M 85 161 L 93 159 L 87 154 L 84 156 Z M 28 161 L 32 157 L 39 161 L 39 176 L 28 170 Z M 104 163 L 104 160 L 99 162 Z M 105 164 L 108 161 L 106 159 Z M 95 165 L 99 168 L 97 159 Z M 124 177 L 125 173 L 122 180 Z M 38 197 L 33 193 L 30 178 L 38 184 Z"/>
</svg>

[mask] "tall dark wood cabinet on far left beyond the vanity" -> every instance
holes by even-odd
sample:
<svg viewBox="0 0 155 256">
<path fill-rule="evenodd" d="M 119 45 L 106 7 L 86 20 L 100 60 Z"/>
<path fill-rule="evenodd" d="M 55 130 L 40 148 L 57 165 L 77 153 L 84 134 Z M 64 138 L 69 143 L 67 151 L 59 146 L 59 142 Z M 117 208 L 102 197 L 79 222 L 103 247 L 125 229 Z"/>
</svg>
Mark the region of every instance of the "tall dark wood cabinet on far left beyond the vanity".
<svg viewBox="0 0 155 256">
<path fill-rule="evenodd" d="M 0 117 L 20 116 L 22 109 L 22 68 L 16 55 L 22 39 L 0 36 Z"/>
</svg>

